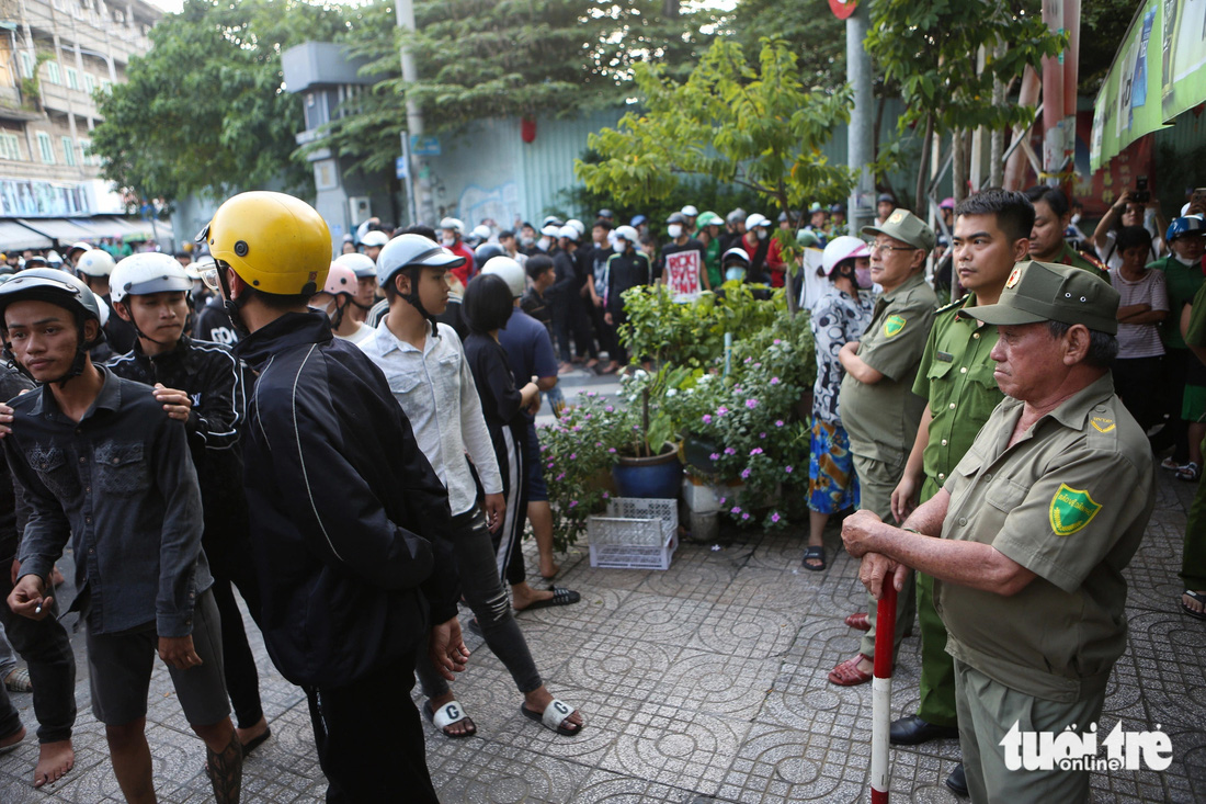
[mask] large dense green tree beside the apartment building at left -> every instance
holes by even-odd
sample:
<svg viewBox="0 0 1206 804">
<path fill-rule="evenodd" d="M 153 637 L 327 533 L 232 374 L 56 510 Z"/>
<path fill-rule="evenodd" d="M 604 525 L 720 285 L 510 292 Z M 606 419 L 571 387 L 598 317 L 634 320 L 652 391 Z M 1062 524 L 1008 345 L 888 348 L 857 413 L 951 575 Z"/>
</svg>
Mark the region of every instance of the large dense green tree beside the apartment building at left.
<svg viewBox="0 0 1206 804">
<path fill-rule="evenodd" d="M 151 30 L 151 51 L 130 59 L 127 83 L 96 94 L 101 175 L 169 203 L 230 186 L 306 187 L 310 171 L 291 158 L 302 101 L 282 86 L 281 51 L 345 29 L 341 6 L 185 0 Z"/>
</svg>

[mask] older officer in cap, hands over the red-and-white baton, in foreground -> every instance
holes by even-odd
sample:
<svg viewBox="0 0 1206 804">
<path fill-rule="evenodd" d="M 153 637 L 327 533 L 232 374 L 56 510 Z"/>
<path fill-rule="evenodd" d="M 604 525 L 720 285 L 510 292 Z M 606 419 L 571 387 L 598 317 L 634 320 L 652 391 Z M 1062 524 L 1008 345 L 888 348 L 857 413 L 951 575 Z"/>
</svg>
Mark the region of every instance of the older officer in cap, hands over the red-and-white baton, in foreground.
<svg viewBox="0 0 1206 804">
<path fill-rule="evenodd" d="M 1089 730 L 1126 647 L 1123 570 L 1154 503 L 1152 450 L 1114 394 L 1118 292 L 1085 270 L 1018 266 L 996 304 L 1006 396 L 946 485 L 892 528 L 871 512 L 842 537 L 872 594 L 907 567 L 935 578 L 955 660 L 972 802 L 1085 802 L 1088 770 L 1011 770 L 1001 742 Z M 1007 741 L 1008 742 L 1008 741 Z"/>
</svg>

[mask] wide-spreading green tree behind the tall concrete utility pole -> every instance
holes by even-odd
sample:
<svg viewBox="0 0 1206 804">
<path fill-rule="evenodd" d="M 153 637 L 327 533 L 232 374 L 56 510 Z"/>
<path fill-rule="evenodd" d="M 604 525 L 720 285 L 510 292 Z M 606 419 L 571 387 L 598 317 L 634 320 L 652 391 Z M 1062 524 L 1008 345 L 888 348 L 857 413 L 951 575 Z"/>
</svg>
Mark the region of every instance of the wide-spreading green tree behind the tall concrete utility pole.
<svg viewBox="0 0 1206 804">
<path fill-rule="evenodd" d="M 671 7 L 668 7 L 671 6 Z M 455 132 L 490 117 L 572 115 L 620 105 L 636 64 L 689 71 L 710 41 L 706 8 L 666 0 L 416 0 L 415 31 L 397 28 L 392 0 L 352 12 L 343 37 L 380 81 L 327 128 L 321 147 L 351 157 L 364 173 L 393 164 L 405 101 L 428 132 Z M 403 81 L 399 52 L 414 54 L 418 80 Z"/>
</svg>

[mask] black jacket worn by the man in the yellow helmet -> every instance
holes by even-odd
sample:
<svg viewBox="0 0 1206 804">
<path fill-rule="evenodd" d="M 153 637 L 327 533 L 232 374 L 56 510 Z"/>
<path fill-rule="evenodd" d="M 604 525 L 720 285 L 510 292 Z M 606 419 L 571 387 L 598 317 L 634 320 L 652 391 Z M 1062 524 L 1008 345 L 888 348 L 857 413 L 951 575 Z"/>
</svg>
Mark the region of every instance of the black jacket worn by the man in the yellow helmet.
<svg viewBox="0 0 1206 804">
<path fill-rule="evenodd" d="M 344 686 L 422 648 L 428 610 L 456 616 L 447 491 L 381 369 L 322 313 L 238 354 L 259 372 L 244 459 L 268 652 L 293 683 Z"/>
</svg>

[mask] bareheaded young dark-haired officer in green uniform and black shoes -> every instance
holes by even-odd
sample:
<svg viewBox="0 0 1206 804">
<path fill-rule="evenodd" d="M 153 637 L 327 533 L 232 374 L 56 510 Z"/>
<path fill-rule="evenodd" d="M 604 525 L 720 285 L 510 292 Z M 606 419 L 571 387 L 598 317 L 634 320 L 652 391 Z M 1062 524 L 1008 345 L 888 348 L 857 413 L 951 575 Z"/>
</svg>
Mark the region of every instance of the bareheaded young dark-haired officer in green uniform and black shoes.
<svg viewBox="0 0 1206 804">
<path fill-rule="evenodd" d="M 1035 208 L 1023 193 L 991 188 L 955 209 L 953 255 L 967 296 L 935 315 L 913 392 L 926 400 L 904 476 L 892 491 L 892 517 L 902 522 L 930 500 L 972 445 L 1002 398 L 991 357 L 996 327 L 971 316 L 973 308 L 996 304 L 1014 266 L 1025 260 Z M 924 471 L 923 471 L 924 470 Z M 933 607 L 933 578 L 917 573 L 917 612 L 921 627 L 921 698 L 917 715 L 892 723 L 892 745 L 918 745 L 959 736 L 955 670 L 947 653 L 947 629 Z M 947 780 L 966 794 L 962 767 Z"/>
</svg>

